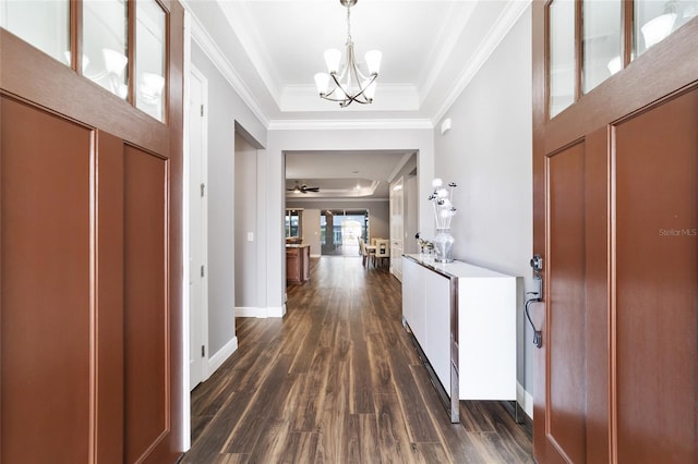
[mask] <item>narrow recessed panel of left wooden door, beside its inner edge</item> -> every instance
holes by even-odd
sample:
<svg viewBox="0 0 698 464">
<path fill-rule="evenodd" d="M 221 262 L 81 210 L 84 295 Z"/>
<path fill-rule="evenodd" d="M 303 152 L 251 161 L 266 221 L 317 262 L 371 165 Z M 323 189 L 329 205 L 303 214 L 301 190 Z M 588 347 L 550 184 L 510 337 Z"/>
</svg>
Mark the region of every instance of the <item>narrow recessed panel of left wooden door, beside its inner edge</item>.
<svg viewBox="0 0 698 464">
<path fill-rule="evenodd" d="M 125 461 L 170 431 L 167 160 L 124 147 Z"/>
</svg>

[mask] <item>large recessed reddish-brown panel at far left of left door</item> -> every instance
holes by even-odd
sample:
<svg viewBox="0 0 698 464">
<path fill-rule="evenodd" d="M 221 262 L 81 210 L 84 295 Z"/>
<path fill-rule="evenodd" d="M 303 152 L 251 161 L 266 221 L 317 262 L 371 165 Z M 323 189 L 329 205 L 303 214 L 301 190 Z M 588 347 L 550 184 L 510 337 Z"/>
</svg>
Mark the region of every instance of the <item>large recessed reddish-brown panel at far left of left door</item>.
<svg viewBox="0 0 698 464">
<path fill-rule="evenodd" d="M 7 96 L 0 110 L 0 460 L 92 462 L 93 131 Z"/>
</svg>

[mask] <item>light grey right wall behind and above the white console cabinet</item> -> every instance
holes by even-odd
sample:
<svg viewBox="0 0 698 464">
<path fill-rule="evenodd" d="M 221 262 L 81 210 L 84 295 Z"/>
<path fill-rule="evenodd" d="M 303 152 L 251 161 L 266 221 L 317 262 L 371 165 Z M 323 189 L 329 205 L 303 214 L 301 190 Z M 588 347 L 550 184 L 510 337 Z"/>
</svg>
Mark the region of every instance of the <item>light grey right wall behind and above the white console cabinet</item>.
<svg viewBox="0 0 698 464">
<path fill-rule="evenodd" d="M 525 277 L 532 291 L 531 9 L 480 69 L 434 131 L 434 171 L 456 182 L 454 256 Z M 517 378 L 532 384 L 532 331 L 518 313 Z M 528 406 L 527 406 L 528 408 Z M 532 405 L 531 405 L 532 410 Z"/>
</svg>

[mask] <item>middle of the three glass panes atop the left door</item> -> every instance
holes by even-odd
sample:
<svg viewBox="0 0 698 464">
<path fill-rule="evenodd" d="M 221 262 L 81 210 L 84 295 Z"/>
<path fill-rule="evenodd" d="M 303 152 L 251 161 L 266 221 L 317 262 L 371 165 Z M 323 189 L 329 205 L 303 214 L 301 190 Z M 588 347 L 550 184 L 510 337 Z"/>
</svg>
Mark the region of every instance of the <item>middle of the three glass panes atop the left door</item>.
<svg viewBox="0 0 698 464">
<path fill-rule="evenodd" d="M 128 9 L 124 0 L 83 0 L 83 75 L 127 98 Z"/>
</svg>

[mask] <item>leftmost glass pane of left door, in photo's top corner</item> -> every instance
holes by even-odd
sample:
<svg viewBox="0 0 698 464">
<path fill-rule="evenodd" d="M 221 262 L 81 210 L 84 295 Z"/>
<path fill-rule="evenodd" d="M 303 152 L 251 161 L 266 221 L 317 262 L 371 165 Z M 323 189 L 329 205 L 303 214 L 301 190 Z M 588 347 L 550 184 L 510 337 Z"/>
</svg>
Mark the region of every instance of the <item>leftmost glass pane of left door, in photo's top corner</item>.
<svg viewBox="0 0 698 464">
<path fill-rule="evenodd" d="M 69 0 L 0 1 L 0 26 L 71 65 Z"/>
</svg>

